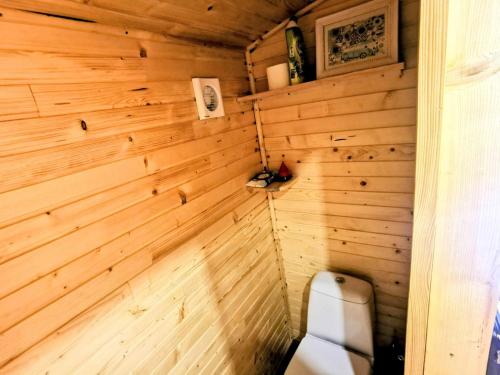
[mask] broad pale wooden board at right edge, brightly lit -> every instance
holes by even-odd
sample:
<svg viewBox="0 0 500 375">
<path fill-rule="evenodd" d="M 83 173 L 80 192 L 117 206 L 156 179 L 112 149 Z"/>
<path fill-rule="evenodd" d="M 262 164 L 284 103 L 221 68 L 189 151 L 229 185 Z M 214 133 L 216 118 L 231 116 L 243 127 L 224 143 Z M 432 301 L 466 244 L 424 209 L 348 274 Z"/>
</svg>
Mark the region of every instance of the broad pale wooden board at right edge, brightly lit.
<svg viewBox="0 0 500 375">
<path fill-rule="evenodd" d="M 426 374 L 486 372 L 500 283 L 499 19 L 498 0 L 448 9 Z"/>
</svg>

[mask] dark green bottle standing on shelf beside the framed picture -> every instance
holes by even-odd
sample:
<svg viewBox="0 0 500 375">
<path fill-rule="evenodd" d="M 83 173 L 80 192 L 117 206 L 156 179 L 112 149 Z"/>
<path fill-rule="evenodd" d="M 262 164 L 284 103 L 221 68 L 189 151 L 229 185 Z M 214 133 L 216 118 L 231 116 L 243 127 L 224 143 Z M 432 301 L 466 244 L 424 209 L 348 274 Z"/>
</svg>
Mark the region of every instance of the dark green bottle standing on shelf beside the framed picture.
<svg viewBox="0 0 500 375">
<path fill-rule="evenodd" d="M 286 45 L 288 47 L 288 71 L 292 85 L 306 80 L 306 58 L 304 37 L 297 26 L 297 17 L 290 18 L 285 30 Z"/>
</svg>

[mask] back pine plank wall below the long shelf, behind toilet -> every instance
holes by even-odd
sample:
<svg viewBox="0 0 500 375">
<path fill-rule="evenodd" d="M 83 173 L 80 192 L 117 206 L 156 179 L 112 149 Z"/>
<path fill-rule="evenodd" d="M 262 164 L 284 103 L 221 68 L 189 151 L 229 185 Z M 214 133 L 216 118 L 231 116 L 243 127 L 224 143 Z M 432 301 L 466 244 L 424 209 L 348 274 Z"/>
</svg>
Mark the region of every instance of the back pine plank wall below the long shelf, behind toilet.
<svg viewBox="0 0 500 375">
<path fill-rule="evenodd" d="M 295 336 L 306 329 L 311 277 L 327 269 L 373 283 L 378 344 L 404 339 L 416 70 L 400 69 L 255 97 L 269 166 L 285 161 L 298 180 L 273 193 Z"/>
</svg>

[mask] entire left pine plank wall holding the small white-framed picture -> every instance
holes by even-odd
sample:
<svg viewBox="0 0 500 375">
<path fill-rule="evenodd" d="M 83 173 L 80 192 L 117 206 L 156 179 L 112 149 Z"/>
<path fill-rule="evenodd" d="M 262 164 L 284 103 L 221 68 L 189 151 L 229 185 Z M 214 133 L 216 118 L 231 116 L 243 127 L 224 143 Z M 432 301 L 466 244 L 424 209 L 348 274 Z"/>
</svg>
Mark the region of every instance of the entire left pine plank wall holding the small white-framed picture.
<svg viewBox="0 0 500 375">
<path fill-rule="evenodd" d="M 271 371 L 289 336 L 241 51 L 9 8 L 0 29 L 0 371 Z M 192 76 L 221 79 L 224 118 L 197 120 Z"/>
</svg>

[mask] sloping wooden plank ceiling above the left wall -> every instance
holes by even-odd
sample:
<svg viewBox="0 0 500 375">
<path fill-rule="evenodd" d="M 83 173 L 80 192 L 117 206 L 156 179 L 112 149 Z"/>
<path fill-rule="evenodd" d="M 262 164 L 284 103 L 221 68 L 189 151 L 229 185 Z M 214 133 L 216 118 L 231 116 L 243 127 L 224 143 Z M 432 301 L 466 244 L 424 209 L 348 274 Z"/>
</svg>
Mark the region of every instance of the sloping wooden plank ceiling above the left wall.
<svg viewBox="0 0 500 375">
<path fill-rule="evenodd" d="M 308 0 L 0 0 L 0 6 L 244 47 Z"/>
</svg>

